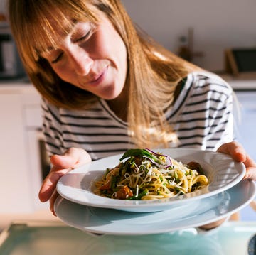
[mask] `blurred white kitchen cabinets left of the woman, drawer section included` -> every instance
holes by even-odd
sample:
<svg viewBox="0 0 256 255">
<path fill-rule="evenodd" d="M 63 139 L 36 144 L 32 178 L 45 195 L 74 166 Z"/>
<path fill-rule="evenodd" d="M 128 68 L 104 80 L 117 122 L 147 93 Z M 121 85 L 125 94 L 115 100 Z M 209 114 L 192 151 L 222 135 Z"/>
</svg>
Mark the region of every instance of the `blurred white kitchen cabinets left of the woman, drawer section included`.
<svg viewBox="0 0 256 255">
<path fill-rule="evenodd" d="M 0 85 L 0 120 L 0 213 L 33 212 L 43 205 L 38 202 L 36 140 L 31 141 L 31 132 L 41 126 L 36 89 L 28 84 Z"/>
</svg>

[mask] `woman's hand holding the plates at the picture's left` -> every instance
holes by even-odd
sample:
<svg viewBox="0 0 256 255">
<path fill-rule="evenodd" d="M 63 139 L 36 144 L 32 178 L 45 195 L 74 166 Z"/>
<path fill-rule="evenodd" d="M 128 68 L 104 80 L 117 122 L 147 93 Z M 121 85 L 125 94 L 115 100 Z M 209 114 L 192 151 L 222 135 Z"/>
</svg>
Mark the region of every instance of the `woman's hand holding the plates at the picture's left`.
<svg viewBox="0 0 256 255">
<path fill-rule="evenodd" d="M 64 155 L 51 156 L 50 163 L 52 168 L 46 179 L 43 180 L 38 197 L 41 202 L 50 200 L 50 210 L 53 212 L 53 215 L 55 215 L 53 205 L 58 197 L 58 192 L 56 192 L 55 188 L 60 177 L 68 173 L 68 171 L 90 161 L 92 161 L 90 155 L 82 148 L 69 148 Z"/>
</svg>

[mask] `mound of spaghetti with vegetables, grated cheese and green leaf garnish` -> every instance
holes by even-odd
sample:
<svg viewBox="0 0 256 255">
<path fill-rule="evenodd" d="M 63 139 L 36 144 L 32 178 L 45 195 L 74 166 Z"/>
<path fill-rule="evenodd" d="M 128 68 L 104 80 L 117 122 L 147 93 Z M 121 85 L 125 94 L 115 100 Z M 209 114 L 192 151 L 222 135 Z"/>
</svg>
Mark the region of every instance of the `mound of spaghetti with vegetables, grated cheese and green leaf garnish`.
<svg viewBox="0 0 256 255">
<path fill-rule="evenodd" d="M 208 185 L 199 163 L 186 164 L 162 153 L 130 149 L 114 168 L 107 168 L 95 183 L 97 195 L 122 200 L 153 200 L 175 197 Z"/>
</svg>

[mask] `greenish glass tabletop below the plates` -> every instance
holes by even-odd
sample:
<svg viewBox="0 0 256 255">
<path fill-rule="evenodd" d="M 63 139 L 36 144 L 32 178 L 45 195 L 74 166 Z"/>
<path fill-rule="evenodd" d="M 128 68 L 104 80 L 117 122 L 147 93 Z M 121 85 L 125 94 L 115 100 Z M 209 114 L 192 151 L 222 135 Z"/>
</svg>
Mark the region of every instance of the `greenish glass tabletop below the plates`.
<svg viewBox="0 0 256 255">
<path fill-rule="evenodd" d="M 88 234 L 63 222 L 13 222 L 0 234 L 0 254 L 253 255 L 255 234 L 256 222 L 236 221 L 225 222 L 208 234 L 186 229 L 139 236 Z"/>
</svg>

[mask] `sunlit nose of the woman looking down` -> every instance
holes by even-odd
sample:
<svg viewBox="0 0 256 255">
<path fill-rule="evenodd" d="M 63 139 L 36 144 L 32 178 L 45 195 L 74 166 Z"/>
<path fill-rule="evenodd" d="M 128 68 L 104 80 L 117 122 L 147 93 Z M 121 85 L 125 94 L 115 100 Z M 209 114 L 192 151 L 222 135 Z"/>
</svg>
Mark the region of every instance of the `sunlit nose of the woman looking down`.
<svg viewBox="0 0 256 255">
<path fill-rule="evenodd" d="M 82 48 L 70 52 L 70 64 L 78 75 L 87 75 L 93 64 L 92 58 Z"/>
</svg>

